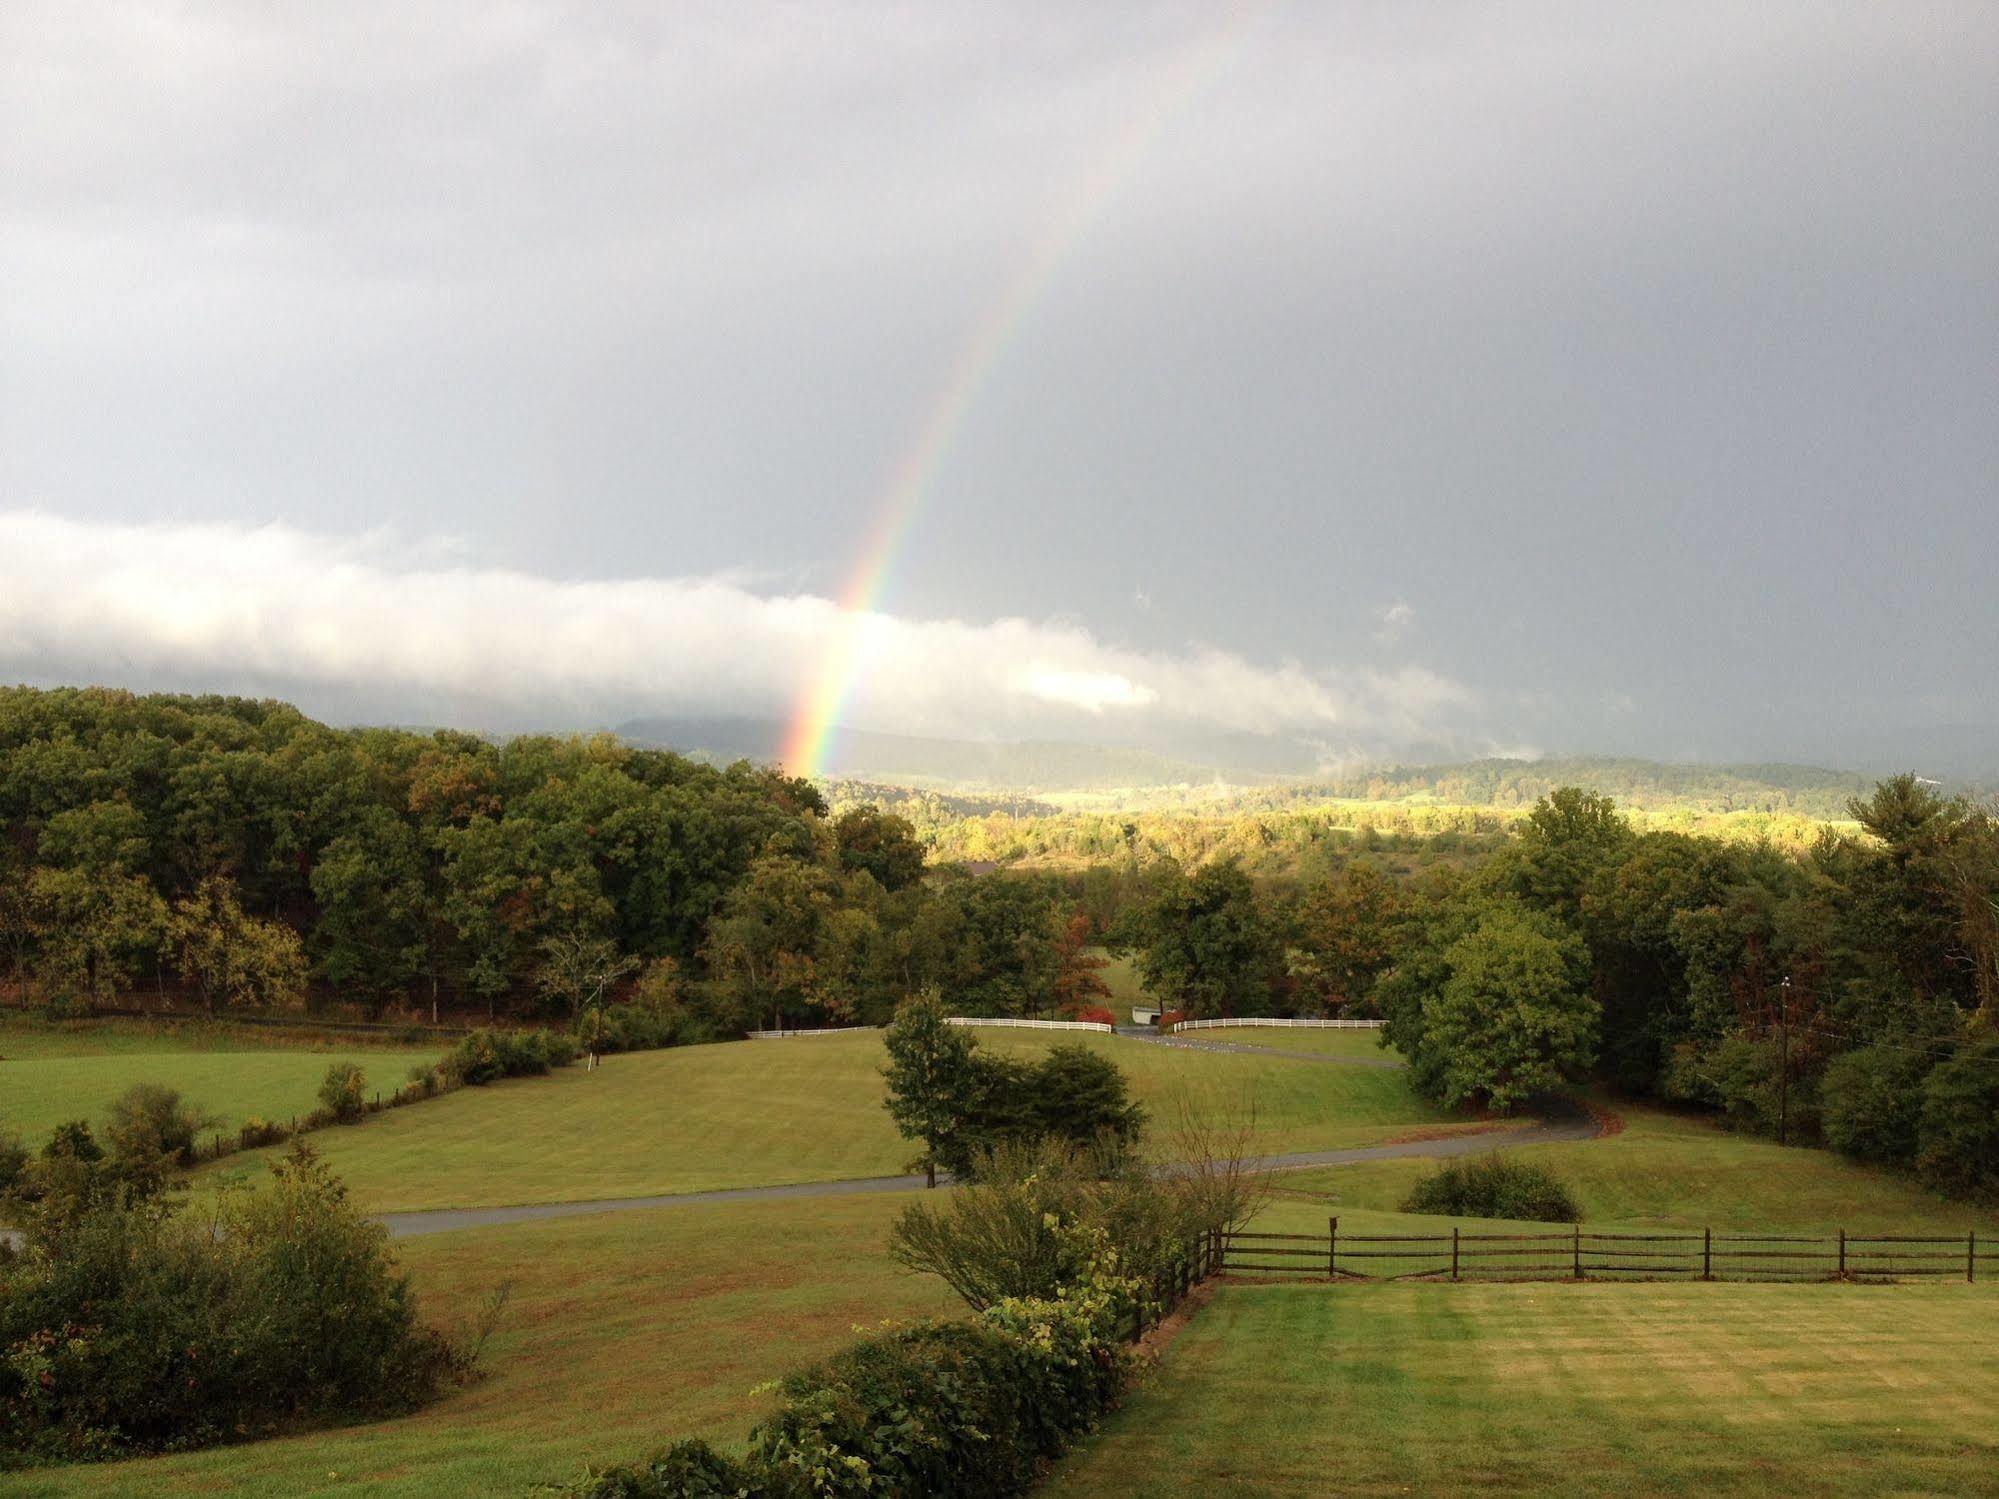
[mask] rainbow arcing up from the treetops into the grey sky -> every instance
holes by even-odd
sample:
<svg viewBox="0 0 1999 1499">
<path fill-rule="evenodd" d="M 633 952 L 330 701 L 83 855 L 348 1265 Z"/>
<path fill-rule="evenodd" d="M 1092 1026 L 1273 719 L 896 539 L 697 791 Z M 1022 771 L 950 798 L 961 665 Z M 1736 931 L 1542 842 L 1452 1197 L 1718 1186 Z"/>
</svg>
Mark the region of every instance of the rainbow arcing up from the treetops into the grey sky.
<svg viewBox="0 0 1999 1499">
<path fill-rule="evenodd" d="M 1267 8 L 1267 0 L 1231 6 L 1221 26 L 1175 60 L 1157 94 L 1117 132 L 1095 164 L 1061 198 L 1057 212 L 1031 240 L 1025 260 L 960 344 L 944 386 L 924 412 L 916 440 L 890 472 L 890 482 L 876 506 L 868 546 L 840 592 L 840 618 L 816 674 L 792 712 L 780 759 L 794 775 L 826 773 L 834 736 L 868 668 L 870 648 L 884 630 L 892 628 L 880 606 L 896 572 L 896 560 L 994 370 L 1007 348 L 1017 342 L 1027 316 L 1055 278 L 1061 262 L 1083 238 L 1083 230 L 1145 158 L 1167 122 L 1221 70 L 1223 62 L 1241 46 L 1251 22 Z"/>
</svg>

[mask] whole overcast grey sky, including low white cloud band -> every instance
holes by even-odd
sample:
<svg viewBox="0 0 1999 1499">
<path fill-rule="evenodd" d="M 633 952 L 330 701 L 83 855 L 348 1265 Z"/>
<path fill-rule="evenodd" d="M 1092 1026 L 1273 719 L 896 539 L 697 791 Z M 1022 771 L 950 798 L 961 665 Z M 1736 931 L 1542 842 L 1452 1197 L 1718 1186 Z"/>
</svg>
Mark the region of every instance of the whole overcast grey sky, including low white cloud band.
<svg viewBox="0 0 1999 1499">
<path fill-rule="evenodd" d="M 0 676 L 784 716 L 1031 276 L 852 722 L 1913 753 L 1995 100 L 1991 0 L 8 0 Z"/>
</svg>

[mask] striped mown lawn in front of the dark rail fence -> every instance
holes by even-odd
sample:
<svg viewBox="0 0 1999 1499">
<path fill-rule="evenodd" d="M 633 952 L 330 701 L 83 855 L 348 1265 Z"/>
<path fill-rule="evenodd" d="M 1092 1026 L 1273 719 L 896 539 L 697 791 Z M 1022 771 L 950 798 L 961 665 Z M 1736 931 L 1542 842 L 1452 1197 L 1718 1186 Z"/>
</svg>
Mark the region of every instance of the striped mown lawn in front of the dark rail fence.
<svg viewBox="0 0 1999 1499">
<path fill-rule="evenodd" d="M 1999 1287 L 1223 1287 L 1051 1499 L 1999 1493 Z"/>
</svg>

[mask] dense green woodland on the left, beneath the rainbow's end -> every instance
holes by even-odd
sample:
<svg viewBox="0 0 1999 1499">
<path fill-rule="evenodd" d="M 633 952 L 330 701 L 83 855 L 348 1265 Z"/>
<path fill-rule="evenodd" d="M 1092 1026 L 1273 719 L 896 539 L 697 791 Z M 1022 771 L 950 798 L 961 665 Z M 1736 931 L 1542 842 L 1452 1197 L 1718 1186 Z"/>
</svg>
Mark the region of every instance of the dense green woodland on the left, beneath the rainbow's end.
<svg viewBox="0 0 1999 1499">
<path fill-rule="evenodd" d="M 20 1001 L 880 1021 L 1053 1003 L 1071 901 L 926 879 L 910 825 L 610 736 L 334 730 L 276 702 L 0 690 Z"/>
</svg>

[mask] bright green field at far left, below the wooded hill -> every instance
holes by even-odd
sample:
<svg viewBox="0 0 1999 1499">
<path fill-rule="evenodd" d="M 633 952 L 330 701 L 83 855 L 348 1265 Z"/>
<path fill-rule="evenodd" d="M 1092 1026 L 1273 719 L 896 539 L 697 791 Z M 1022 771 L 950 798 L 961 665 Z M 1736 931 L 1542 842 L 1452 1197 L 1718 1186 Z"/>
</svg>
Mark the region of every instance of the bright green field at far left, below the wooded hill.
<svg viewBox="0 0 1999 1499">
<path fill-rule="evenodd" d="M 392 1093 L 414 1061 L 442 1051 L 220 1025 L 12 1021 L 0 1025 L 0 1129 L 38 1145 L 64 1119 L 102 1125 L 110 1103 L 134 1083 L 166 1083 L 220 1115 L 218 1129 L 232 1135 L 252 1115 L 310 1113 L 334 1061 L 354 1061 L 370 1089 Z"/>
</svg>

